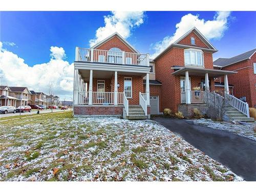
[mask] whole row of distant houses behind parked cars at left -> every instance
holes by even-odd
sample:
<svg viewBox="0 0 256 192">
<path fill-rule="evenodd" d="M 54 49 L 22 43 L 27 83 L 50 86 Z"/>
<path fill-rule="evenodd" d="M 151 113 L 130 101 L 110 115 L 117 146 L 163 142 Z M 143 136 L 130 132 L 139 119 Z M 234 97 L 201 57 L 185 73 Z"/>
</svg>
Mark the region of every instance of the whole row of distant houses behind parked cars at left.
<svg viewBox="0 0 256 192">
<path fill-rule="evenodd" d="M 45 105 L 60 106 L 61 102 L 57 95 L 47 95 L 43 92 L 35 92 L 27 87 L 9 87 L 0 86 L 0 106 L 15 106 L 20 105 Z"/>
</svg>

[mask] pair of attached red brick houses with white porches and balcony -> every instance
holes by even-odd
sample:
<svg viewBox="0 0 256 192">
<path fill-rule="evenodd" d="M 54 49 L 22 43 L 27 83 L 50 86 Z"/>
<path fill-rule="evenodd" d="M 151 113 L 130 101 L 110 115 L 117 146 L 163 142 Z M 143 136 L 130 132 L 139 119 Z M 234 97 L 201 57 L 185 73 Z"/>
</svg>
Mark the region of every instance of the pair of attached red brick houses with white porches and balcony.
<svg viewBox="0 0 256 192">
<path fill-rule="evenodd" d="M 216 48 L 196 28 L 154 59 L 138 52 L 118 33 L 91 48 L 76 47 L 74 117 L 145 119 L 162 114 L 165 108 L 181 111 L 185 117 L 190 117 L 194 108 L 205 114 L 206 95 L 216 94 L 219 86 L 230 98 L 230 107 L 242 114 L 240 120 L 248 120 L 248 104 L 230 95 L 228 76 L 237 72 L 214 69 L 215 52 Z M 224 77 L 224 83 L 215 82 L 219 77 Z"/>
</svg>

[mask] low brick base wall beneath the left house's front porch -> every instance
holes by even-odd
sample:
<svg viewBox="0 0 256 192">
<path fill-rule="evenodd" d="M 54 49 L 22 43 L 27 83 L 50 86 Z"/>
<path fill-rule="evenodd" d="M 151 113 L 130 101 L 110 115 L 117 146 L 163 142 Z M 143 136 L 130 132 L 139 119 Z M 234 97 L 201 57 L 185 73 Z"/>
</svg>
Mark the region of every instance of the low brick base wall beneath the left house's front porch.
<svg viewBox="0 0 256 192">
<path fill-rule="evenodd" d="M 74 106 L 74 115 L 122 115 L 123 106 Z"/>
</svg>

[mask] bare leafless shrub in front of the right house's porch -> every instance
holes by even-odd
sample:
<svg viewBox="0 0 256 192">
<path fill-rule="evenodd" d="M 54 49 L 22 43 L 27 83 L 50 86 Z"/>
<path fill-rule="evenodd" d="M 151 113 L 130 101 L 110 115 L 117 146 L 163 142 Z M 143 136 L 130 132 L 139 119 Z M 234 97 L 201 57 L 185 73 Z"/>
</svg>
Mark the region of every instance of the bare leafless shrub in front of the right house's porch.
<svg viewBox="0 0 256 192">
<path fill-rule="evenodd" d="M 222 121 L 229 105 L 229 97 L 225 92 L 207 92 L 206 103 L 208 105 L 208 115 L 218 121 Z"/>
</svg>

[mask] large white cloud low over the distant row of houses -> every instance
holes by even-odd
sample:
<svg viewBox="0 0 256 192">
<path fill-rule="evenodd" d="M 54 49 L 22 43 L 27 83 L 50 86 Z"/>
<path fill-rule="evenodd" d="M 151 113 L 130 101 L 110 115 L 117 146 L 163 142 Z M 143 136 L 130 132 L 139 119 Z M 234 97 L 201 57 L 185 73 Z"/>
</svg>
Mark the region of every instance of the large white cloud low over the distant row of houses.
<svg viewBox="0 0 256 192">
<path fill-rule="evenodd" d="M 49 82 L 52 82 L 54 94 L 60 99 L 66 97 L 66 100 L 70 100 L 73 94 L 74 64 L 63 60 L 66 56 L 63 48 L 51 47 L 50 51 L 50 61 L 31 67 L 23 58 L 4 50 L 0 41 L 1 84 L 24 86 L 49 94 Z"/>
</svg>

